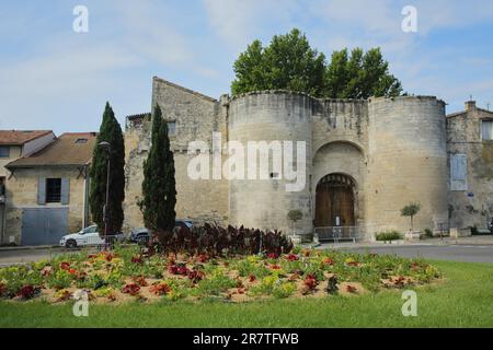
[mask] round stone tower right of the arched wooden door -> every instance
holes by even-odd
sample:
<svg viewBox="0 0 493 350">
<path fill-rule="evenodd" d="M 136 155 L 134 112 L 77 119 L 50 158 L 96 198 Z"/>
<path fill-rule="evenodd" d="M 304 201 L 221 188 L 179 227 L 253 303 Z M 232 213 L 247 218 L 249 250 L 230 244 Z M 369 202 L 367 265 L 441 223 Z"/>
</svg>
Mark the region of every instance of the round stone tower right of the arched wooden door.
<svg viewBox="0 0 493 350">
<path fill-rule="evenodd" d="M 435 97 L 372 98 L 368 104 L 366 230 L 410 231 L 401 209 L 420 202 L 414 231 L 446 223 L 445 103 Z"/>
</svg>

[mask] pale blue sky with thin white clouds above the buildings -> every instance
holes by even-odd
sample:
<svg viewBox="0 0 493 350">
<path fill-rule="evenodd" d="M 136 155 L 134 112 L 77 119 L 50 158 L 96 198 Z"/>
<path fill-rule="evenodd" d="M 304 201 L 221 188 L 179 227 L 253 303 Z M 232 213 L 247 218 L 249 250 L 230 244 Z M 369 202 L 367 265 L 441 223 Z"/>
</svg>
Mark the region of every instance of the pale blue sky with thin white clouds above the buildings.
<svg viewBox="0 0 493 350">
<path fill-rule="evenodd" d="M 402 31 L 405 5 L 416 32 Z M 124 126 L 150 112 L 154 75 L 218 98 L 251 42 L 293 27 L 328 57 L 381 47 L 404 91 L 447 113 L 471 95 L 493 109 L 490 0 L 0 0 L 0 129 L 98 131 L 106 101 Z"/>
</svg>

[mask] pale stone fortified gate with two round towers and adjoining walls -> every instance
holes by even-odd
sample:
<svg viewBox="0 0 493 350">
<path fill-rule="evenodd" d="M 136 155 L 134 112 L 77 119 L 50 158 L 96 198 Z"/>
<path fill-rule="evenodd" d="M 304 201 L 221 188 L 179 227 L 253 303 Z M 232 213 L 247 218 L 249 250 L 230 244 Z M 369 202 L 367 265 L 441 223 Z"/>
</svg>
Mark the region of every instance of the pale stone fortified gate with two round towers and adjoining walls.
<svg viewBox="0 0 493 350">
<path fill-rule="evenodd" d="M 484 219 L 492 215 L 492 179 L 484 175 L 491 174 L 490 142 L 484 140 L 490 131 L 481 131 L 484 137 L 478 138 L 480 121 L 460 115 L 446 118 L 445 103 L 433 96 L 322 100 L 266 91 L 233 98 L 223 95 L 217 101 L 154 78 L 151 105 L 156 104 L 170 125 L 181 218 L 289 233 L 293 225 L 287 214 L 300 210 L 300 233 L 312 233 L 314 228 L 356 228 L 360 238 L 371 240 L 381 231 L 408 232 L 409 218 L 401 215 L 401 209 L 411 202 L 422 207 L 414 219 L 414 229 L 420 231 L 438 232 L 450 225 L 470 230 L 482 221 L 485 226 Z M 488 112 L 475 113 L 478 120 L 491 117 Z M 474 143 L 468 150 L 458 145 L 468 128 L 477 131 L 471 142 L 484 153 L 479 159 L 482 153 L 472 148 Z M 125 225 L 131 229 L 142 225 L 137 202 L 150 147 L 150 114 L 128 117 L 125 139 Z M 217 168 L 228 166 L 231 155 L 225 144 L 231 141 L 245 149 L 249 142 L 264 142 L 270 148 L 264 156 L 272 165 L 267 176 L 259 173 L 257 179 L 249 179 L 220 174 Z M 294 183 L 283 176 L 287 168 L 274 165 L 276 148 L 286 141 L 305 144 L 305 182 L 296 191 L 286 190 Z M 458 152 L 470 158 L 474 179 L 469 185 L 478 213 L 463 209 L 462 201 L 471 198 L 468 194 L 463 199 L 463 195 L 472 187 L 462 194 L 451 190 L 450 163 L 457 162 L 458 158 L 451 158 Z M 191 164 L 198 156 L 209 160 L 207 178 L 191 176 Z M 248 156 L 245 167 L 251 166 Z M 260 151 L 255 156 L 257 162 Z M 295 158 L 291 170 L 296 170 Z M 477 172 L 483 172 L 479 179 Z"/>
</svg>

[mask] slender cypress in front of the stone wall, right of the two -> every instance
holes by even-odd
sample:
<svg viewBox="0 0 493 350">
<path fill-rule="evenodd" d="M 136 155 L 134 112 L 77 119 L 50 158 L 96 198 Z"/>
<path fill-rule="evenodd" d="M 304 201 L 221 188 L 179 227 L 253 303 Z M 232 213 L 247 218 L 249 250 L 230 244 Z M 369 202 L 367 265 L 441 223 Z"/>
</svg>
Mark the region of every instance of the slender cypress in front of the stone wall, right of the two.
<svg viewBox="0 0 493 350">
<path fill-rule="evenodd" d="M 168 122 L 157 105 L 152 116 L 152 144 L 144 163 L 142 200 L 139 206 L 146 228 L 153 234 L 174 229 L 176 186 Z"/>
</svg>

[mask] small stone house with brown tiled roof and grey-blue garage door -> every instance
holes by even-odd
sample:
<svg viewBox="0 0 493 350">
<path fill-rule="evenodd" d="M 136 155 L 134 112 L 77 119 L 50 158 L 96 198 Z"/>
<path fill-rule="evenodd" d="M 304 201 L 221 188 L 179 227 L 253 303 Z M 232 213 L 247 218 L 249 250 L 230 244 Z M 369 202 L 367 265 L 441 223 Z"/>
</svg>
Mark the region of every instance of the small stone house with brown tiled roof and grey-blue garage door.
<svg viewBox="0 0 493 350">
<path fill-rule="evenodd" d="M 58 244 L 89 224 L 89 177 L 94 132 L 64 133 L 5 165 L 5 231 L 18 245 Z"/>
</svg>

